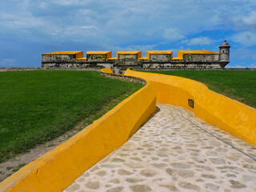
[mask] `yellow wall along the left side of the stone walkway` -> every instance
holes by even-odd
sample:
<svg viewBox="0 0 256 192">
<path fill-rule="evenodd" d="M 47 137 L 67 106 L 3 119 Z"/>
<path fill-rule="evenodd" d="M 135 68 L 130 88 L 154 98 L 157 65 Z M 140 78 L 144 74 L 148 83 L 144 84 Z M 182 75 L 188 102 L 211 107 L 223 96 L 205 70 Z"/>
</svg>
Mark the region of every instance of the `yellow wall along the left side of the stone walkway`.
<svg viewBox="0 0 256 192">
<path fill-rule="evenodd" d="M 156 95 L 148 83 L 85 130 L 6 178 L 0 191 L 66 189 L 90 166 L 122 146 L 155 108 Z"/>
</svg>

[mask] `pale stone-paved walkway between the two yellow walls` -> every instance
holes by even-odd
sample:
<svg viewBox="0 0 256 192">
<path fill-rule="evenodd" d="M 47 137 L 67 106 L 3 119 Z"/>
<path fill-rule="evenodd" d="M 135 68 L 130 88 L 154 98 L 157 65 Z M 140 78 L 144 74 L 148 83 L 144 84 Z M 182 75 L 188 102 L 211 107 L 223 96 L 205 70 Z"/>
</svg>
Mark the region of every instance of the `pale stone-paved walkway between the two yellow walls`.
<svg viewBox="0 0 256 192">
<path fill-rule="evenodd" d="M 65 191 L 256 191 L 255 146 L 194 118 L 189 110 L 158 107 L 128 142 Z"/>
</svg>

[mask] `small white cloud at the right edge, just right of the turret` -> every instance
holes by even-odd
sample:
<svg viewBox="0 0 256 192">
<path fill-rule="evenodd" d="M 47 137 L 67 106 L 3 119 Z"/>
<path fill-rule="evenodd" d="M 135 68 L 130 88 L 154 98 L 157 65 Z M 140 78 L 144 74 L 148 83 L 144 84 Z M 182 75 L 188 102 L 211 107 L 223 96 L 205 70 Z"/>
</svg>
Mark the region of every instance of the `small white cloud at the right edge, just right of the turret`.
<svg viewBox="0 0 256 192">
<path fill-rule="evenodd" d="M 243 46 L 254 46 L 256 45 L 256 33 L 251 31 L 244 31 L 238 34 L 234 34 L 231 37 L 234 42 L 239 42 Z"/>
</svg>

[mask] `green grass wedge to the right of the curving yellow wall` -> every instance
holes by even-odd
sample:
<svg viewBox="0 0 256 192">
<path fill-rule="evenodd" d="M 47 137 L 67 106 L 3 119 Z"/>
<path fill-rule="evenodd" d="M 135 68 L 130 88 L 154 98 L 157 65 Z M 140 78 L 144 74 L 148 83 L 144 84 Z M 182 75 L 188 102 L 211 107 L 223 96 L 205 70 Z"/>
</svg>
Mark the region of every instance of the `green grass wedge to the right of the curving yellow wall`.
<svg viewBox="0 0 256 192">
<path fill-rule="evenodd" d="M 146 71 L 191 78 L 210 90 L 256 108 L 256 70 L 162 70 Z"/>
</svg>

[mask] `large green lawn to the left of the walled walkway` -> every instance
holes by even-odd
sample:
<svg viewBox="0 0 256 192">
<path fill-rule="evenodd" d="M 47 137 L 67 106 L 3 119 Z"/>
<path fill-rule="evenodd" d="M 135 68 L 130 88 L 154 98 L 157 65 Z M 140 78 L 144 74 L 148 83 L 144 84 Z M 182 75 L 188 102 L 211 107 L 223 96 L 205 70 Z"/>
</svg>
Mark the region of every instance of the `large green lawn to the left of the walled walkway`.
<svg viewBox="0 0 256 192">
<path fill-rule="evenodd" d="M 141 87 L 95 71 L 0 73 L 0 162 L 57 138 Z"/>
</svg>

